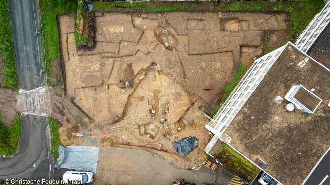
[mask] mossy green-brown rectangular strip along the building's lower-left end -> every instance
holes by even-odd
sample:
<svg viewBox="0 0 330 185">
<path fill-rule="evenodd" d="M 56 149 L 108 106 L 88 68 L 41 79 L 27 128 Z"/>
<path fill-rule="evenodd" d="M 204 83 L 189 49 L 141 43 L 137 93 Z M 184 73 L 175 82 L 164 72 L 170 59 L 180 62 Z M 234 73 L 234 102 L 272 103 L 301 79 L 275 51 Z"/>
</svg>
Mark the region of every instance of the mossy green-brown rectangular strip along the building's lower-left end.
<svg viewBox="0 0 330 185">
<path fill-rule="evenodd" d="M 246 182 L 251 183 L 259 173 L 259 168 L 232 150 L 227 144 L 221 143 L 216 154 L 212 154 L 219 162 Z"/>
</svg>

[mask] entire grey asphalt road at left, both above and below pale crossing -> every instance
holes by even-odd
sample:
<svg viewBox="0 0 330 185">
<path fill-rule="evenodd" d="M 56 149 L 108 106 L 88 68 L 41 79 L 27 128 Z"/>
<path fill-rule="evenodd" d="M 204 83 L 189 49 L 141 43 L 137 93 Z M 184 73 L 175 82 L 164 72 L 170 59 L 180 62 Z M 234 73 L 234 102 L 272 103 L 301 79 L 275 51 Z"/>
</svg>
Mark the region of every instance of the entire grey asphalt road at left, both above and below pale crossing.
<svg viewBox="0 0 330 185">
<path fill-rule="evenodd" d="M 18 87 L 31 90 L 41 86 L 40 38 L 37 33 L 37 11 L 34 0 L 9 0 L 10 24 L 14 44 Z M 19 148 L 13 156 L 0 158 L 0 179 L 27 178 L 33 171 L 52 161 L 48 156 L 45 118 L 27 115 L 21 117 Z M 39 164 L 36 168 L 33 163 Z M 44 167 L 43 167 L 44 168 Z M 42 177 L 41 177 L 42 176 Z M 48 173 L 38 178 L 48 179 Z"/>
</svg>

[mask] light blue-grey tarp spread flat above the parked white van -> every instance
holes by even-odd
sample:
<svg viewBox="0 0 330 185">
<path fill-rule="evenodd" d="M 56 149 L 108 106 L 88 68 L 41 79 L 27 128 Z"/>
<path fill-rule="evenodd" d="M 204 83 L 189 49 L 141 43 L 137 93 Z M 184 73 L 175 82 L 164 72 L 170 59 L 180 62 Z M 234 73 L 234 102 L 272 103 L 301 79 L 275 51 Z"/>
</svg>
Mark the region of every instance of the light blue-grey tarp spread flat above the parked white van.
<svg viewBox="0 0 330 185">
<path fill-rule="evenodd" d="M 99 160 L 99 147 L 59 145 L 56 168 L 68 168 L 96 172 Z"/>
</svg>

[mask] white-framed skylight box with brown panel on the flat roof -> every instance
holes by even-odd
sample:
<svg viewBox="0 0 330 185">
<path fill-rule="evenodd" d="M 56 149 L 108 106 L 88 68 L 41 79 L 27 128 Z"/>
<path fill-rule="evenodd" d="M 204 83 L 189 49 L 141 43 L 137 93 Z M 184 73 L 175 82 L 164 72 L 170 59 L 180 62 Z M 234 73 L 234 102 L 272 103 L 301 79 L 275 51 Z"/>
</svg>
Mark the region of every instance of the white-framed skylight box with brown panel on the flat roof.
<svg viewBox="0 0 330 185">
<path fill-rule="evenodd" d="M 307 115 L 313 114 L 322 102 L 322 99 L 302 85 L 292 86 L 284 98 Z"/>
</svg>

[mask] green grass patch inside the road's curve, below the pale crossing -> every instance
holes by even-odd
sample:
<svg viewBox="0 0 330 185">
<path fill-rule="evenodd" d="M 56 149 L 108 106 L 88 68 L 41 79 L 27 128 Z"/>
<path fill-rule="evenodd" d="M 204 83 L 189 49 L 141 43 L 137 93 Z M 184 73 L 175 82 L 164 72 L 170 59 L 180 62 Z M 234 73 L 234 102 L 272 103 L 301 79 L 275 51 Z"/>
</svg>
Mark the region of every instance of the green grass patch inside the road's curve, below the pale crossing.
<svg viewBox="0 0 330 185">
<path fill-rule="evenodd" d="M 18 140 L 21 135 L 21 120 L 17 113 L 16 120 L 9 128 L 5 127 L 1 122 L 0 114 L 0 155 L 15 154 L 18 148 Z"/>
</svg>

